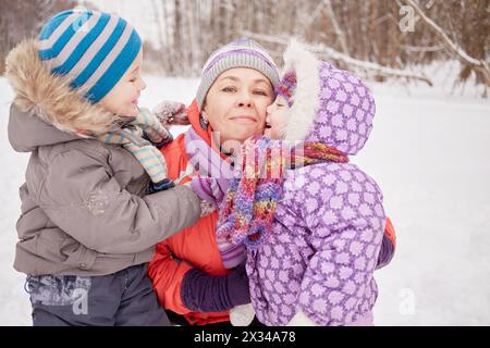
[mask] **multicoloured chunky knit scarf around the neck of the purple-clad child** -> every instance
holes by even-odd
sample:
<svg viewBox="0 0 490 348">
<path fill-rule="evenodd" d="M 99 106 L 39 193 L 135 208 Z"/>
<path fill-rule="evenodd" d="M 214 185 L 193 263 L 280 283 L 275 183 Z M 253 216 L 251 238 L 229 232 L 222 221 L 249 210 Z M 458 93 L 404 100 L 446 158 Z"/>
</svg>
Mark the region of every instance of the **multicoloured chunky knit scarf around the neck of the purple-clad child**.
<svg viewBox="0 0 490 348">
<path fill-rule="evenodd" d="M 348 162 L 346 154 L 322 142 L 290 147 L 282 140 L 256 136 L 242 146 L 218 220 L 217 236 L 234 245 L 257 248 L 271 233 L 284 173 L 321 162 Z"/>
</svg>

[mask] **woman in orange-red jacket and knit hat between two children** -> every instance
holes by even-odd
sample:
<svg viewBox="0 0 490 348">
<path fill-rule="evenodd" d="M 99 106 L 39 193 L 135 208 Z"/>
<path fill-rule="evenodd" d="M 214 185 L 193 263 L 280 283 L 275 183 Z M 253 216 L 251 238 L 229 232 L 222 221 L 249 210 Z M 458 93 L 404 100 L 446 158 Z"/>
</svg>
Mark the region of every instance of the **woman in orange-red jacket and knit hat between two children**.
<svg viewBox="0 0 490 348">
<path fill-rule="evenodd" d="M 203 69 L 197 98 L 187 110 L 191 129 L 162 149 L 169 178 L 189 184 L 189 174 L 198 169 L 226 181 L 233 150 L 264 132 L 278 82 L 273 60 L 253 40 L 240 39 L 213 52 Z M 219 187 L 215 189 L 220 192 Z M 160 243 L 149 264 L 155 291 L 175 323 L 228 323 L 230 309 L 250 302 L 244 266 L 229 268 L 240 264 L 245 254 L 231 250 L 223 264 L 216 240 L 217 220 L 213 211 Z"/>
</svg>

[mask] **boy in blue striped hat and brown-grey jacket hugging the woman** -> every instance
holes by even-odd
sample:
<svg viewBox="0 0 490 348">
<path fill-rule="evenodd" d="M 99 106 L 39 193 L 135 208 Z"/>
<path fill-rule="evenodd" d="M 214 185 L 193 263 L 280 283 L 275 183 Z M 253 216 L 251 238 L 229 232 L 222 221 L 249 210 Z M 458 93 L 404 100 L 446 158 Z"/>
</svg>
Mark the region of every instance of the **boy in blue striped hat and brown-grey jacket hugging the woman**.
<svg viewBox="0 0 490 348">
<path fill-rule="evenodd" d="M 169 325 L 147 276 L 155 245 L 200 201 L 167 179 L 171 139 L 137 105 L 142 39 L 115 14 L 75 9 L 7 58 L 9 139 L 30 152 L 14 268 L 34 325 Z"/>
</svg>

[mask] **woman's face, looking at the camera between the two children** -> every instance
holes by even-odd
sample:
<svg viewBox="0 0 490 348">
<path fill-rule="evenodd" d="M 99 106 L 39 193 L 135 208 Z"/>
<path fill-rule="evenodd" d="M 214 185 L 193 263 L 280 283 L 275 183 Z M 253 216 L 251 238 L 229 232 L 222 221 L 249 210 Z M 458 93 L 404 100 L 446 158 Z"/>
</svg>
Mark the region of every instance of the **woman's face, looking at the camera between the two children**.
<svg viewBox="0 0 490 348">
<path fill-rule="evenodd" d="M 230 69 L 218 76 L 209 89 L 203 117 L 219 132 L 220 145 L 226 149 L 229 140 L 243 142 L 262 134 L 266 110 L 273 97 L 270 80 L 258 71 Z"/>
</svg>

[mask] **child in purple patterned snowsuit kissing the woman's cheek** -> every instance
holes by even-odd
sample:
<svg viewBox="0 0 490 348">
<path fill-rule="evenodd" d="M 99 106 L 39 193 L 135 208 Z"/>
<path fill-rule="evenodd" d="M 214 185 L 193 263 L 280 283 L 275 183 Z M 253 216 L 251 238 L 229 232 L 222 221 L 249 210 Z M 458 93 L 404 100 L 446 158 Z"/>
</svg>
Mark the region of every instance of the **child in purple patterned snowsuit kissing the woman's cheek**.
<svg viewBox="0 0 490 348">
<path fill-rule="evenodd" d="M 298 44 L 287 48 L 284 63 L 266 136 L 304 144 L 305 164 L 285 171 L 280 197 L 265 197 L 270 186 L 257 185 L 249 220 L 240 214 L 246 197 L 240 190 L 247 186 L 232 181 L 218 236 L 248 245 L 250 297 L 261 323 L 372 325 L 373 271 L 387 217 L 380 188 L 347 157 L 364 147 L 371 132 L 375 100 L 359 78 L 317 60 Z M 262 140 L 254 145 L 267 144 Z M 324 160 L 333 153 L 335 160 Z M 273 223 L 257 241 L 266 206 L 275 208 Z M 256 229 L 245 227 L 240 235 L 244 221 Z"/>
</svg>

